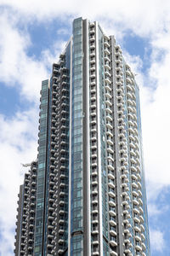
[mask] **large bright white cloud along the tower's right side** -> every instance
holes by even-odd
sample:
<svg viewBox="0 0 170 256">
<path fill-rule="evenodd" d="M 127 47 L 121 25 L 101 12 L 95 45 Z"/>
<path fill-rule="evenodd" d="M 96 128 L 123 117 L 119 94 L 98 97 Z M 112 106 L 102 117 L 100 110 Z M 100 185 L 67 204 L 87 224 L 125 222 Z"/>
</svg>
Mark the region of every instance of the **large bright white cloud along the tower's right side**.
<svg viewBox="0 0 170 256">
<path fill-rule="evenodd" d="M 161 50 L 161 49 L 160 49 Z M 149 71 L 149 88 L 142 93 L 144 160 L 150 182 L 170 184 L 168 166 L 170 143 L 170 48 L 163 59 L 153 60 Z M 146 82 L 146 79 L 145 79 Z M 147 95 L 146 98 L 144 96 Z"/>
</svg>

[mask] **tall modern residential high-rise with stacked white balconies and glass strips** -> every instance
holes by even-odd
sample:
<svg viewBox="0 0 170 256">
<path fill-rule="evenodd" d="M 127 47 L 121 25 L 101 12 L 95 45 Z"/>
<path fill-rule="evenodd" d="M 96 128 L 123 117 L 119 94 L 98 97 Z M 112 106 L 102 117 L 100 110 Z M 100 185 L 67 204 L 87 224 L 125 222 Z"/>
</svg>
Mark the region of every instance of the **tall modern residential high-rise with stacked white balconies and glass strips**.
<svg viewBox="0 0 170 256">
<path fill-rule="evenodd" d="M 139 86 L 98 22 L 73 21 L 39 123 L 15 255 L 150 256 Z"/>
</svg>

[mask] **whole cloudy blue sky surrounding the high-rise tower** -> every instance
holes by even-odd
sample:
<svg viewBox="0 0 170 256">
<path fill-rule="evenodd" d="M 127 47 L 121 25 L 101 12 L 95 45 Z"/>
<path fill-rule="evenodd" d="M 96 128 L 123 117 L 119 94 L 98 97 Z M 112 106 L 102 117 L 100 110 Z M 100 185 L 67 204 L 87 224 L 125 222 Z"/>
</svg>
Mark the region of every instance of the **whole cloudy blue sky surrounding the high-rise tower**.
<svg viewBox="0 0 170 256">
<path fill-rule="evenodd" d="M 0 255 L 14 255 L 20 163 L 37 157 L 41 81 L 79 16 L 114 34 L 138 74 L 151 256 L 170 255 L 169 13 L 169 0 L 0 0 Z"/>
</svg>

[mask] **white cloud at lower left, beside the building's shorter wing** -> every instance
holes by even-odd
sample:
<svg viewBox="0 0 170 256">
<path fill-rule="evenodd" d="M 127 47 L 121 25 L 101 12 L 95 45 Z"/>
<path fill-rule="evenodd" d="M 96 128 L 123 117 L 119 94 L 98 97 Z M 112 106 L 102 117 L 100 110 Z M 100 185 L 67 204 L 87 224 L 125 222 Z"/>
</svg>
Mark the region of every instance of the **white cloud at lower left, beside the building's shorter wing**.
<svg viewBox="0 0 170 256">
<path fill-rule="evenodd" d="M 11 255 L 14 248 L 16 203 L 24 169 L 37 157 L 37 111 L 16 113 L 13 119 L 0 115 L 0 255 Z"/>
</svg>

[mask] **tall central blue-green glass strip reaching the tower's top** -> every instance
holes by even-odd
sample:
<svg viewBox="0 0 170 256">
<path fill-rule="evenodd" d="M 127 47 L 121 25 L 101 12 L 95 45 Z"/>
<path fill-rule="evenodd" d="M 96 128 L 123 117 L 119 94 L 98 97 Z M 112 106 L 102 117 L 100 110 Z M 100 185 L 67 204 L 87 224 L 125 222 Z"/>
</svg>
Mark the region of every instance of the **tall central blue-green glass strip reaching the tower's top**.
<svg viewBox="0 0 170 256">
<path fill-rule="evenodd" d="M 82 19 L 73 22 L 71 133 L 71 234 L 82 231 Z M 77 246 L 78 241 L 78 246 Z M 71 255 L 82 255 L 82 235 L 71 237 Z"/>
</svg>

